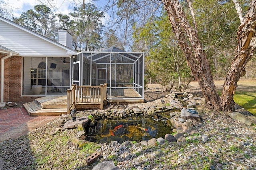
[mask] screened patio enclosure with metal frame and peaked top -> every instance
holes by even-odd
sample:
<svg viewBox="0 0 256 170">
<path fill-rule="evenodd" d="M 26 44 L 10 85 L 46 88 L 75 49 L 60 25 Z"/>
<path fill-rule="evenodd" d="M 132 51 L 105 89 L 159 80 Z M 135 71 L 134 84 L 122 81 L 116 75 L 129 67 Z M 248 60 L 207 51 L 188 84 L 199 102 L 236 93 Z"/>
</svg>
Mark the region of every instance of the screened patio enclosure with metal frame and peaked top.
<svg viewBox="0 0 256 170">
<path fill-rule="evenodd" d="M 73 83 L 107 83 L 112 102 L 143 102 L 144 53 L 125 52 L 116 47 L 103 51 L 80 52 L 73 60 Z"/>
</svg>

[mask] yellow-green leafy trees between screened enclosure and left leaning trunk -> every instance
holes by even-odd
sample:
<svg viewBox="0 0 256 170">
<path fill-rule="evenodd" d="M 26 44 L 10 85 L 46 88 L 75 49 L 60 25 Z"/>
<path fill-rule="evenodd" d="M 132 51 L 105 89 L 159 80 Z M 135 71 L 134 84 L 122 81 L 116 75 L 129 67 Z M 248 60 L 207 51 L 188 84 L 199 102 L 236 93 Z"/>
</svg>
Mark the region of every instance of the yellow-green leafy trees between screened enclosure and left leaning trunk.
<svg viewBox="0 0 256 170">
<path fill-rule="evenodd" d="M 162 15 L 155 18 L 154 24 L 148 22 L 143 28 L 134 25 L 134 41 L 144 41 L 148 49 L 145 57 L 146 78 L 160 83 L 166 91 L 173 86 L 184 90 L 191 77 L 190 68 L 178 47 L 166 13 Z"/>
</svg>

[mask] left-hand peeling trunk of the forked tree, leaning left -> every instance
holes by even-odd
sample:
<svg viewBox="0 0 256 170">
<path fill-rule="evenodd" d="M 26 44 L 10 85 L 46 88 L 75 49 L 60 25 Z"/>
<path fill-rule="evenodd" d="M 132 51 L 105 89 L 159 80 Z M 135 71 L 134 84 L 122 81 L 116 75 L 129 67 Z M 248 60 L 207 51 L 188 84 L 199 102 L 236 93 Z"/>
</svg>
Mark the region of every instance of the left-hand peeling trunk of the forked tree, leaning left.
<svg viewBox="0 0 256 170">
<path fill-rule="evenodd" d="M 172 24 L 172 31 L 176 35 L 194 78 L 202 89 L 208 107 L 219 110 L 220 97 L 210 72 L 210 64 L 198 39 L 197 30 L 190 26 L 178 0 L 163 0 L 163 4 Z"/>
</svg>

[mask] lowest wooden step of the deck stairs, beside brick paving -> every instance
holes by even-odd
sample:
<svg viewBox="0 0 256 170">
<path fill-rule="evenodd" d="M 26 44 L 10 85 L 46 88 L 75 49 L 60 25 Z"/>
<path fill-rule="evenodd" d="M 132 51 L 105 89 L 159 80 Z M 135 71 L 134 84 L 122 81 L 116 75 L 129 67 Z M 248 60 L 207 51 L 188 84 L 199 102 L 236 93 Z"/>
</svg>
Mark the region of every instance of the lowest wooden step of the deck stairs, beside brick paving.
<svg viewBox="0 0 256 170">
<path fill-rule="evenodd" d="M 62 114 L 67 114 L 67 108 L 40 109 L 30 112 L 30 116 L 59 116 Z"/>
</svg>

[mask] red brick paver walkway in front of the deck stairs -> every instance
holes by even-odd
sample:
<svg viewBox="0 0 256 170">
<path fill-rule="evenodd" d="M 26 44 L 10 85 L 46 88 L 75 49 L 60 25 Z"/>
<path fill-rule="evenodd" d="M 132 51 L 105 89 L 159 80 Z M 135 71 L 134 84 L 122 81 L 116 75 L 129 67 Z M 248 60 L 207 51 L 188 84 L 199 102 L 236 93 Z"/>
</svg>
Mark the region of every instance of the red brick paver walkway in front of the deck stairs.
<svg viewBox="0 0 256 170">
<path fill-rule="evenodd" d="M 0 141 L 14 139 L 58 116 L 29 116 L 24 107 L 0 109 Z"/>
</svg>

